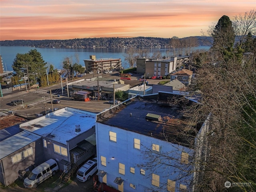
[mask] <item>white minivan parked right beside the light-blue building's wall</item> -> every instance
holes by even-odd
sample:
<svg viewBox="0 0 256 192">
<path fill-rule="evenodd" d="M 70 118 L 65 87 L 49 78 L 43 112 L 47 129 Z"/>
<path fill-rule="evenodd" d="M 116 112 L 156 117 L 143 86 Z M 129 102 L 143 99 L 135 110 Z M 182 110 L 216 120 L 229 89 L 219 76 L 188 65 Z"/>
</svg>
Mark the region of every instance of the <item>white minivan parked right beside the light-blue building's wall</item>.
<svg viewBox="0 0 256 192">
<path fill-rule="evenodd" d="M 88 160 L 76 173 L 78 181 L 86 182 L 97 171 L 97 158 Z"/>
</svg>

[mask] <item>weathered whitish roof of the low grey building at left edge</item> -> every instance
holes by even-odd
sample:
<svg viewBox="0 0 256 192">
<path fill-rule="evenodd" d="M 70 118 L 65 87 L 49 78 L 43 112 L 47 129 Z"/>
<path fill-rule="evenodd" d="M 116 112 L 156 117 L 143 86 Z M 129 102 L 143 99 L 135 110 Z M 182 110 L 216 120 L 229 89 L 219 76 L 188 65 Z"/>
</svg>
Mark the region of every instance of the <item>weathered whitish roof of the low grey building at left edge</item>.
<svg viewBox="0 0 256 192">
<path fill-rule="evenodd" d="M 31 132 L 22 131 L 0 142 L 0 159 L 16 152 L 28 144 L 40 139 L 40 136 Z"/>
</svg>

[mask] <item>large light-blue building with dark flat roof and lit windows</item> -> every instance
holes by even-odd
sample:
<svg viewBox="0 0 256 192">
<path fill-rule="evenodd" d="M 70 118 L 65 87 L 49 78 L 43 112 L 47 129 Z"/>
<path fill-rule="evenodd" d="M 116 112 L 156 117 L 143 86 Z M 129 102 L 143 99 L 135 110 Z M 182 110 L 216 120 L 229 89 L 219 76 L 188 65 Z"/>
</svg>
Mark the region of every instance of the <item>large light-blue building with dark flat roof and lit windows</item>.
<svg viewBox="0 0 256 192">
<path fill-rule="evenodd" d="M 121 192 L 193 190 L 200 169 L 194 158 L 202 153 L 197 134 L 206 133 L 207 123 L 192 124 L 182 111 L 194 101 L 174 104 L 181 97 L 164 92 L 134 97 L 97 115 L 100 182 Z"/>
</svg>

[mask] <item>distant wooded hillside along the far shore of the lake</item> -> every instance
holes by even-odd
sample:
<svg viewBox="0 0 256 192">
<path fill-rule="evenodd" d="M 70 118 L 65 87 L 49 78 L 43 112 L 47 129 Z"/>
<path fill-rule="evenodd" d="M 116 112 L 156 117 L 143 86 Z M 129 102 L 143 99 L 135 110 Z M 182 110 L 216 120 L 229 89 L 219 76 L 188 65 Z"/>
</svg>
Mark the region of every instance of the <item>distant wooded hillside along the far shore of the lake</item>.
<svg viewBox="0 0 256 192">
<path fill-rule="evenodd" d="M 1 46 L 29 46 L 38 48 L 172 48 L 170 43 L 172 38 L 156 38 L 156 37 L 102 37 L 102 38 L 75 38 L 68 40 L 4 40 L 0 41 Z M 193 39 L 194 46 L 209 46 L 212 37 L 194 36 L 186 38 L 178 38 L 181 46 L 184 42 Z"/>
</svg>

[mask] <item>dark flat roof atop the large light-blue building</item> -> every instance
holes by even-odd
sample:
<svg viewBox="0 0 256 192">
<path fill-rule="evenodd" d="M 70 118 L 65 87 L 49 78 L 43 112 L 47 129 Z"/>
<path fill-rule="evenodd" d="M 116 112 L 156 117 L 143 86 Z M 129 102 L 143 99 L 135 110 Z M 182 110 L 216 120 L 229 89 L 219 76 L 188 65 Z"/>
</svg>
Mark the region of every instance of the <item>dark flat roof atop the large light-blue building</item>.
<svg viewBox="0 0 256 192">
<path fill-rule="evenodd" d="M 98 114 L 97 122 L 188 146 L 189 136 L 185 138 L 182 132 L 187 126 L 196 125 L 191 124 L 188 114 L 182 113 L 182 106 L 168 105 L 167 100 L 172 100 L 172 96 L 183 97 L 166 94 L 166 96 L 158 96 L 159 100 L 132 98 L 120 104 L 114 113 L 104 111 L 106 114 Z M 149 113 L 160 117 L 159 120 L 148 120 L 146 116 Z"/>
</svg>

